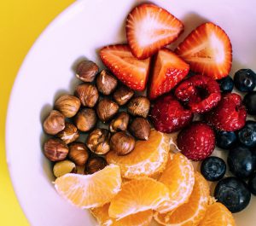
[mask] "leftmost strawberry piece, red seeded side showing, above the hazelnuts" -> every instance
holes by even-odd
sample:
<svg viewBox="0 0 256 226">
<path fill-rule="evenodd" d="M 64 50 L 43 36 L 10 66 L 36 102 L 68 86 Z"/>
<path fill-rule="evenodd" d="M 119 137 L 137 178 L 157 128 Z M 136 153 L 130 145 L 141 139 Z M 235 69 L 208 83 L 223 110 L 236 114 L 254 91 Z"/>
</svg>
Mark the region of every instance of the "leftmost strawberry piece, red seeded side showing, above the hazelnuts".
<svg viewBox="0 0 256 226">
<path fill-rule="evenodd" d="M 103 63 L 119 80 L 132 90 L 146 87 L 150 59 L 137 60 L 126 44 L 109 45 L 100 50 Z"/>
</svg>

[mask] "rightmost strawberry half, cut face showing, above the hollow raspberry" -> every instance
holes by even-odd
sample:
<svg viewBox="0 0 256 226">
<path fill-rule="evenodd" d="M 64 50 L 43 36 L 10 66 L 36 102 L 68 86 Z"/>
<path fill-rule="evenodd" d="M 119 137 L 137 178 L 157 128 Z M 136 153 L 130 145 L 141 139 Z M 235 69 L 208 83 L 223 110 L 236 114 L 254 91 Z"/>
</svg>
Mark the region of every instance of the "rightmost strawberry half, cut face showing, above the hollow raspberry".
<svg viewBox="0 0 256 226">
<path fill-rule="evenodd" d="M 205 23 L 198 26 L 176 49 L 190 69 L 214 79 L 226 77 L 231 68 L 230 38 L 219 26 Z"/>
</svg>

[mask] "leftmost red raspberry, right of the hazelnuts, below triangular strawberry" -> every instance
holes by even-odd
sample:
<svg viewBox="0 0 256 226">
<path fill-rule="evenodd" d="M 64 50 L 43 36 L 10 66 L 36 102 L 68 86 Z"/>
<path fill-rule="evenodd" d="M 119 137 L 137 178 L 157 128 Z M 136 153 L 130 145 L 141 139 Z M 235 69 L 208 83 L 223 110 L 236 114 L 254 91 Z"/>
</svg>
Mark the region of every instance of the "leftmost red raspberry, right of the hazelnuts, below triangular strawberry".
<svg viewBox="0 0 256 226">
<path fill-rule="evenodd" d="M 184 109 L 174 96 L 163 96 L 155 101 L 151 119 L 155 130 L 172 133 L 189 125 L 193 113 Z"/>
</svg>

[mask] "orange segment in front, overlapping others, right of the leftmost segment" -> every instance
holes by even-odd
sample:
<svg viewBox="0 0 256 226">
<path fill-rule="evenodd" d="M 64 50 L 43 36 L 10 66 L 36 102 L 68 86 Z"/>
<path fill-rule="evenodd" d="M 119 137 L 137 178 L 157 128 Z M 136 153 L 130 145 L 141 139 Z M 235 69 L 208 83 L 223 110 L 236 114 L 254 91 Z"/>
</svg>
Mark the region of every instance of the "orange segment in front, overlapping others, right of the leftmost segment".
<svg viewBox="0 0 256 226">
<path fill-rule="evenodd" d="M 110 203 L 108 214 L 119 219 L 137 212 L 156 210 L 168 200 L 169 191 L 163 183 L 149 177 L 133 179 L 123 183 L 121 190 Z"/>
</svg>

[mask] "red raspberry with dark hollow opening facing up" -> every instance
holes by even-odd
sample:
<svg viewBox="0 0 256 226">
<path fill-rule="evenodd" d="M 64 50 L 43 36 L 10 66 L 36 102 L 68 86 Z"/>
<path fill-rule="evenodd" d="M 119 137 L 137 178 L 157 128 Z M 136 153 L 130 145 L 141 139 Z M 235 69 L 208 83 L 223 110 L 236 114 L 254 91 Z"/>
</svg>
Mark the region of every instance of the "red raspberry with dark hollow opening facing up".
<svg viewBox="0 0 256 226">
<path fill-rule="evenodd" d="M 205 75 L 195 75 L 177 86 L 175 96 L 184 101 L 193 113 L 206 113 L 221 99 L 219 84 Z"/>
</svg>

